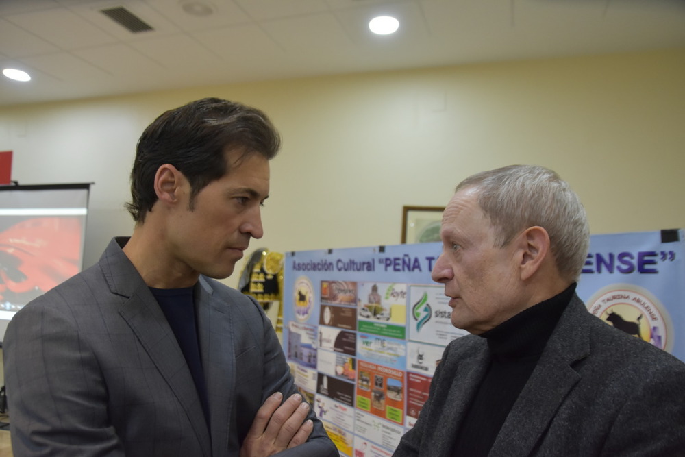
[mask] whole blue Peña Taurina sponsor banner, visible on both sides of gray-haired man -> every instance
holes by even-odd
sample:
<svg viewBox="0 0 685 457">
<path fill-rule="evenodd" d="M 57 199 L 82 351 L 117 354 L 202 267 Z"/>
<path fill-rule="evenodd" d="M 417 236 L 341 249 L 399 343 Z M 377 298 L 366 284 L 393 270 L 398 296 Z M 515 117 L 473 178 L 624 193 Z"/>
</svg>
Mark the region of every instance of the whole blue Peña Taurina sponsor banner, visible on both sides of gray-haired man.
<svg viewBox="0 0 685 457">
<path fill-rule="evenodd" d="M 593 235 L 577 288 L 590 312 L 638 323 L 640 337 L 681 360 L 683 240 L 682 230 Z M 443 286 L 430 277 L 441 249 L 286 253 L 284 352 L 343 456 L 391 456 L 419 417 L 445 345 L 466 334 L 451 325 Z"/>
</svg>

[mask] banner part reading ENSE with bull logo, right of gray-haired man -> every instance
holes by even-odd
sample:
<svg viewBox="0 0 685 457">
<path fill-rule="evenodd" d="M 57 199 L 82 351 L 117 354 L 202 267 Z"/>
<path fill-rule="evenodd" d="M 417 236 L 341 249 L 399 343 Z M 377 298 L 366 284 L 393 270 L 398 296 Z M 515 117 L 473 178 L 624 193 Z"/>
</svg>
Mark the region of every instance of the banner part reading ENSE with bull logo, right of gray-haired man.
<svg viewBox="0 0 685 457">
<path fill-rule="evenodd" d="M 593 235 L 578 284 L 588 311 L 685 360 L 684 231 Z"/>
</svg>

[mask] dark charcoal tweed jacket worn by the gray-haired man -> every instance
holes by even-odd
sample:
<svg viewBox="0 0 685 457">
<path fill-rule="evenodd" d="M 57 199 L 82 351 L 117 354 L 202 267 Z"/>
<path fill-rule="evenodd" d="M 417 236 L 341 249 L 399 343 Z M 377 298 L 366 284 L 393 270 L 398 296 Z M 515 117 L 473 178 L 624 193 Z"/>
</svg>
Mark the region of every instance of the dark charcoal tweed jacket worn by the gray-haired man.
<svg viewBox="0 0 685 457">
<path fill-rule="evenodd" d="M 395 457 L 451 456 L 489 357 L 479 336 L 447 346 Z M 574 295 L 489 456 L 685 456 L 685 364 L 603 323 Z"/>
</svg>

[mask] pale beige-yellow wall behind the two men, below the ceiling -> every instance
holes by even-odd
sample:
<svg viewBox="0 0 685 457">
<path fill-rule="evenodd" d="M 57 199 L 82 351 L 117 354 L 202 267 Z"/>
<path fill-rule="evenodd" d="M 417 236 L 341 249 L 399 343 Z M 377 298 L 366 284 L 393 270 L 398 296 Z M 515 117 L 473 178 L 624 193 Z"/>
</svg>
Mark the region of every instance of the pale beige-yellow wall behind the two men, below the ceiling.
<svg viewBox="0 0 685 457">
<path fill-rule="evenodd" d="M 92 264 L 132 228 L 121 208 L 142 129 L 206 96 L 262 108 L 284 138 L 253 248 L 397 244 L 403 205 L 443 206 L 466 175 L 512 163 L 569 180 L 593 233 L 685 227 L 685 49 L 0 108 L 0 150 L 20 184 L 95 182 Z"/>
</svg>

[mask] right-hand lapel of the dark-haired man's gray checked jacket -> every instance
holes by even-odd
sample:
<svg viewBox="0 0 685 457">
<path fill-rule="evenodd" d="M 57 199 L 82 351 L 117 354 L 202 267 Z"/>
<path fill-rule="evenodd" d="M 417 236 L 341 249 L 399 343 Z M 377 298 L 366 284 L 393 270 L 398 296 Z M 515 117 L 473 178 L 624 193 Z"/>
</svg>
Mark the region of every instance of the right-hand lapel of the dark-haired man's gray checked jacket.
<svg viewBox="0 0 685 457">
<path fill-rule="evenodd" d="M 231 309 L 213 295 L 212 287 L 203 277 L 195 287 L 200 331 L 200 353 L 205 371 L 210 404 L 210 428 L 214 457 L 227 455 L 232 415 L 232 395 L 235 386 L 235 357 L 231 325 Z"/>
</svg>

